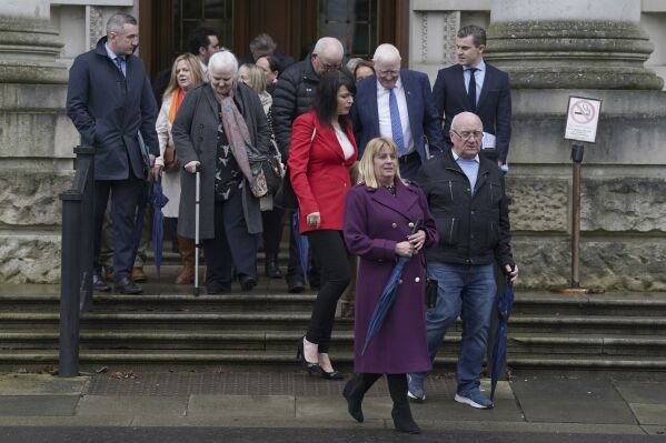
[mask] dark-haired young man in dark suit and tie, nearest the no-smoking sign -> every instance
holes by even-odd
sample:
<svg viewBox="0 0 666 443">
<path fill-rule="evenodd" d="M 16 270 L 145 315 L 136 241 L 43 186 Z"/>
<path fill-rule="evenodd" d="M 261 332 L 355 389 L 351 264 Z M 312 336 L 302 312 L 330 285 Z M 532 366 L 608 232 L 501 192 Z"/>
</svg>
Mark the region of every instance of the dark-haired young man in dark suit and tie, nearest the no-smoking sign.
<svg viewBox="0 0 666 443">
<path fill-rule="evenodd" d="M 460 28 L 456 38 L 458 64 L 439 70 L 433 97 L 439 115 L 444 115 L 445 141 L 451 145 L 448 134 L 453 118 L 464 111 L 474 112 L 484 123 L 485 153 L 503 167 L 511 138 L 511 90 L 507 73 L 484 61 L 485 49 L 484 28 Z"/>
</svg>

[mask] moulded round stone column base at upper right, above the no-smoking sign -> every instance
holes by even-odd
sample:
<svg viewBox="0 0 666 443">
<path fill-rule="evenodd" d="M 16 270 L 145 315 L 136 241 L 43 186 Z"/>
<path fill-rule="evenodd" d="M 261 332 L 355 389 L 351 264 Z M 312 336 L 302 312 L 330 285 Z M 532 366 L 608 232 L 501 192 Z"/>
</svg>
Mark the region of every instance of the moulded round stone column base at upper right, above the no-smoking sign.
<svg viewBox="0 0 666 443">
<path fill-rule="evenodd" d="M 514 88 L 662 89 L 640 0 L 494 0 L 488 60 Z"/>
</svg>

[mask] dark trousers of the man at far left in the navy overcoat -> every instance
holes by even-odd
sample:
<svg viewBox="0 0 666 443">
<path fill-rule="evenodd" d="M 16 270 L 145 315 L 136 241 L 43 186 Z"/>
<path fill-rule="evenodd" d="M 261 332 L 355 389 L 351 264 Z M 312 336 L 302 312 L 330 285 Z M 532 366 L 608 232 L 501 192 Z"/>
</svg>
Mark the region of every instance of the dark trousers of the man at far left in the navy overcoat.
<svg viewBox="0 0 666 443">
<path fill-rule="evenodd" d="M 101 249 L 102 223 L 109 194 L 111 194 L 111 224 L 113 226 L 113 275 L 116 280 L 129 276 L 135 265 L 133 232 L 137 204 L 145 190 L 143 179 L 131 172 L 126 180 L 95 181 L 95 226 L 92 248 L 95 251 L 95 272 L 101 272 L 99 253 Z"/>
</svg>

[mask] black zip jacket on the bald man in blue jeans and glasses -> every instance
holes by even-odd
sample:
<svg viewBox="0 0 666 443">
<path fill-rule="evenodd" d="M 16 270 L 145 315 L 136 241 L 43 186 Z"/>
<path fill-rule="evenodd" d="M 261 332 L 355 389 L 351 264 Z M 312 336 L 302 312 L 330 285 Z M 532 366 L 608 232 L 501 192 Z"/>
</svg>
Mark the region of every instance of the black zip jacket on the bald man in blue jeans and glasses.
<svg viewBox="0 0 666 443">
<path fill-rule="evenodd" d="M 450 264 L 514 265 L 508 201 L 497 164 L 479 157 L 474 194 L 450 150 L 426 162 L 417 177 L 435 218 L 439 243 L 426 259 Z"/>
</svg>

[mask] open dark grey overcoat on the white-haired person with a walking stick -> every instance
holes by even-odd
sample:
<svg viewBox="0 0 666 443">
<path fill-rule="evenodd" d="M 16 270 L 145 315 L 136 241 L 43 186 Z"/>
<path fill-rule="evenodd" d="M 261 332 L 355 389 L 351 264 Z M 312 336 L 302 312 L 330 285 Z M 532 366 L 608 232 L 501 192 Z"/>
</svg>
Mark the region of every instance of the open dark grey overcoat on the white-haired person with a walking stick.
<svg viewBox="0 0 666 443">
<path fill-rule="evenodd" d="M 254 145 L 264 154 L 269 152 L 270 131 L 259 95 L 243 83 L 233 90 L 233 101 L 250 132 Z M 185 95 L 173 121 L 171 134 L 173 147 L 182 165 L 198 160 L 201 163 L 201 189 L 199 209 L 199 236 L 215 238 L 215 174 L 217 139 L 220 117 L 218 100 L 212 88 L 202 83 Z M 242 210 L 250 234 L 261 232 L 261 210 L 259 199 L 252 195 L 249 183 L 243 179 Z M 180 172 L 180 208 L 178 211 L 178 233 L 195 238 L 196 174 Z"/>
</svg>

